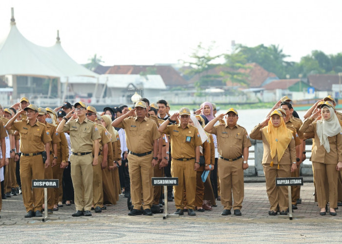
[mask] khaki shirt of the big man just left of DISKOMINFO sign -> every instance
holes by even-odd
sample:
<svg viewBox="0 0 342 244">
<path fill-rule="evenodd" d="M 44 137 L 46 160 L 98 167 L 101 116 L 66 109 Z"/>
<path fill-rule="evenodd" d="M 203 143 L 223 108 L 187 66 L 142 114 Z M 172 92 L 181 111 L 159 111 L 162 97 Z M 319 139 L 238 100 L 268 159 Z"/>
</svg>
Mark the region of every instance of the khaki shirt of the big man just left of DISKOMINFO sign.
<svg viewBox="0 0 342 244">
<path fill-rule="evenodd" d="M 147 117 L 142 122 L 139 122 L 136 116 L 128 117 L 117 127 L 125 129 L 127 148 L 134 153 L 152 151 L 153 141 L 160 137 L 157 124 Z"/>
</svg>

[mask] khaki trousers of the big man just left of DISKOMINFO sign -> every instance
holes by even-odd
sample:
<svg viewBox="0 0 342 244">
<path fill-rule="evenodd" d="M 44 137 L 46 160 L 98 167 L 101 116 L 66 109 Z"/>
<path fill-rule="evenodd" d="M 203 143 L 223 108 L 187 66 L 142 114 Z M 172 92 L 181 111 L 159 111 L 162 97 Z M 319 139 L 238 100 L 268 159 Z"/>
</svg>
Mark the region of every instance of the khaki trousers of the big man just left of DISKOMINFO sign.
<svg viewBox="0 0 342 244">
<path fill-rule="evenodd" d="M 153 168 L 151 166 L 153 155 L 146 155 L 138 157 L 132 154 L 128 154 L 128 172 L 130 178 L 130 197 L 132 199 L 132 205 L 134 209 L 151 208 L 153 202 L 153 187 L 152 187 L 152 175 Z M 141 195 L 143 194 L 143 195 Z M 143 196 L 143 201 L 141 201 Z"/>
</svg>

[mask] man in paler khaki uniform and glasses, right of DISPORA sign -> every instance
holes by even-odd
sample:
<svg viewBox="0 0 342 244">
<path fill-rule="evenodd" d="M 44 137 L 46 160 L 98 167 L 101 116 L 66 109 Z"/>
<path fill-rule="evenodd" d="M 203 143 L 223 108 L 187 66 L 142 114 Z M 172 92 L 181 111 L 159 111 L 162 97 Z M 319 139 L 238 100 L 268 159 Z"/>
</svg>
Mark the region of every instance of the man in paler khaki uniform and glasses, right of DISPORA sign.
<svg viewBox="0 0 342 244">
<path fill-rule="evenodd" d="M 74 112 L 72 114 L 72 112 Z M 71 144 L 71 179 L 74 185 L 76 212 L 73 217 L 91 216 L 93 203 L 93 166 L 98 164 L 99 139 L 101 138 L 97 124 L 86 117 L 85 102 L 76 102 L 58 125 L 57 132 L 70 131 Z M 71 119 L 71 120 L 70 120 Z M 68 121 L 68 122 L 66 122 Z M 92 148 L 94 141 L 94 158 Z"/>
</svg>

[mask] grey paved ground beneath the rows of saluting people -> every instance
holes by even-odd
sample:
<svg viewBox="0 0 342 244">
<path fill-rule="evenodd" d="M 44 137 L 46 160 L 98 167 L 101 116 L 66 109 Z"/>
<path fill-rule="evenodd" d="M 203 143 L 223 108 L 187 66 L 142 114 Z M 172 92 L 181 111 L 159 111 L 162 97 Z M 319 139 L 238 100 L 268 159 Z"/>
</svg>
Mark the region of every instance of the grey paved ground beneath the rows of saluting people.
<svg viewBox="0 0 342 244">
<path fill-rule="evenodd" d="M 217 203 L 213 211 L 167 220 L 128 216 L 127 199 L 120 196 L 118 204 L 92 217 L 71 217 L 75 206 L 64 205 L 52 215 L 60 220 L 42 223 L 23 218 L 19 195 L 3 200 L 0 238 L 10 243 L 341 243 L 341 209 L 335 217 L 320 216 L 313 190 L 313 183 L 304 183 L 302 204 L 294 214 L 305 218 L 292 221 L 268 216 L 265 183 L 245 183 L 242 216 L 221 216 L 222 206 Z M 169 204 L 169 213 L 173 211 L 174 202 Z"/>
</svg>

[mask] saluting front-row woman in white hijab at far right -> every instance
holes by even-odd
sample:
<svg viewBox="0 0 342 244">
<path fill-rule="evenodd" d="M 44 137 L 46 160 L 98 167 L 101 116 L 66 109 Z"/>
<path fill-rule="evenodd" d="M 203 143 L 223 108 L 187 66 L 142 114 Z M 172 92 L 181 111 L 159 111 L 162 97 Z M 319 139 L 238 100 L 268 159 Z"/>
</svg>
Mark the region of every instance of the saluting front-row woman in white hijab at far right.
<svg viewBox="0 0 342 244">
<path fill-rule="evenodd" d="M 320 215 L 326 214 L 329 203 L 329 214 L 333 216 L 337 207 L 338 171 L 342 169 L 342 132 L 334 110 L 331 102 L 324 102 L 321 110 L 316 108 L 299 129 L 305 133 L 305 138 L 315 139 L 311 161 Z"/>
</svg>

